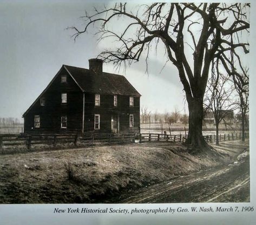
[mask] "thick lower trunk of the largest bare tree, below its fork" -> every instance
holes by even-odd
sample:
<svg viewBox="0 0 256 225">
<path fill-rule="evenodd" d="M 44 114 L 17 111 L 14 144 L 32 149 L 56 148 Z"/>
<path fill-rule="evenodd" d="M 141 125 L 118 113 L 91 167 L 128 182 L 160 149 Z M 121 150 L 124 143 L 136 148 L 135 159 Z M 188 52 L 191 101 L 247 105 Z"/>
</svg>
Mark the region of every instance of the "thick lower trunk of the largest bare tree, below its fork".
<svg viewBox="0 0 256 225">
<path fill-rule="evenodd" d="M 202 120 L 204 117 L 204 108 L 202 99 L 190 99 L 188 101 L 189 109 L 189 128 L 186 144 L 195 151 L 208 146 L 202 135 Z"/>
</svg>

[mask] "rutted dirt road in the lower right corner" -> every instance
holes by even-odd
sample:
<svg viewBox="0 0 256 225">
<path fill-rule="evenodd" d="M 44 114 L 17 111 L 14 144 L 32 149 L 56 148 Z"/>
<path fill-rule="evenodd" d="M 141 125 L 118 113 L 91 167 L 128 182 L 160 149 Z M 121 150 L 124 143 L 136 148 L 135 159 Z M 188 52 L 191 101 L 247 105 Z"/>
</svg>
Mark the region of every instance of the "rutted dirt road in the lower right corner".
<svg viewBox="0 0 256 225">
<path fill-rule="evenodd" d="M 133 193 L 125 193 L 119 197 L 119 201 L 113 200 L 120 203 L 248 202 L 249 161 L 247 147 L 230 165 L 180 176 Z"/>
</svg>

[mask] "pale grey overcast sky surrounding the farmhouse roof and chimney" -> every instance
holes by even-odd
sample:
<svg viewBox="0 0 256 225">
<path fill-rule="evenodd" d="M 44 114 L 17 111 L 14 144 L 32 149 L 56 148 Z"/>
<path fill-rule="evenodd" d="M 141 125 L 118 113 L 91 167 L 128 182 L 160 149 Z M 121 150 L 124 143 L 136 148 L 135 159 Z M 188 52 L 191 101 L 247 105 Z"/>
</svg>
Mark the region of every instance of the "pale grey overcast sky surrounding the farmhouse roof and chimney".
<svg viewBox="0 0 256 225">
<path fill-rule="evenodd" d="M 88 68 L 88 59 L 104 49 L 104 44 L 96 43 L 93 30 L 74 42 L 74 31 L 66 29 L 81 27 L 84 22 L 80 16 L 84 10 L 97 6 L 95 2 L 1 2 L 0 117 L 21 118 L 62 64 Z M 145 62 L 139 62 L 132 64 L 124 75 L 141 93 L 141 106 L 152 112 L 173 111 L 174 107 L 182 110 L 185 100 L 178 73 L 171 63 L 162 70 L 163 59 L 159 55 L 151 57 L 148 74 Z M 123 74 L 111 64 L 103 65 L 103 70 Z"/>
</svg>

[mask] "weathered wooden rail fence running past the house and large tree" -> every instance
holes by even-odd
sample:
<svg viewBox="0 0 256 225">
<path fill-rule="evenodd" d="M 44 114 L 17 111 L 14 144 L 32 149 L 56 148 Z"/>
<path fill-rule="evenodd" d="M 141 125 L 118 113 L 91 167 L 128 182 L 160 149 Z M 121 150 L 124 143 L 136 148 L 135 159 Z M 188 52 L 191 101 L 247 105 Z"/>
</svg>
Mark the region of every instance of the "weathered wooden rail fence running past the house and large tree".
<svg viewBox="0 0 256 225">
<path fill-rule="evenodd" d="M 216 135 L 205 135 L 207 142 L 215 142 Z M 220 134 L 220 141 L 238 140 L 242 138 L 241 133 Z M 249 138 L 249 133 L 245 133 L 245 138 Z M 97 142 L 145 142 L 145 141 L 172 141 L 172 142 L 185 142 L 187 136 L 182 134 L 169 135 L 169 134 L 154 134 L 154 133 L 141 133 L 141 134 L 99 134 L 90 133 L 84 137 L 78 137 L 77 134 L 35 134 L 35 135 L 14 135 L 14 134 L 0 134 L 0 150 L 2 151 L 8 147 L 26 147 L 31 149 L 35 145 L 48 145 L 49 147 L 56 147 L 57 144 L 73 143 L 77 146 L 77 142 L 82 144 L 95 144 Z"/>
</svg>

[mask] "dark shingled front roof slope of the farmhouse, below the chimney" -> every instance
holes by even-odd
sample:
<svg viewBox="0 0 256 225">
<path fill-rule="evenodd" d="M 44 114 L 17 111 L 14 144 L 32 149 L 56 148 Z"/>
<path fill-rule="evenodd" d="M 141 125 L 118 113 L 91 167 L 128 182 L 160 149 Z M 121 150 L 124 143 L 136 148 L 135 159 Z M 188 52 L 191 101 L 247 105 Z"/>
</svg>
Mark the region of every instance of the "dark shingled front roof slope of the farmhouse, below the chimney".
<svg viewBox="0 0 256 225">
<path fill-rule="evenodd" d="M 105 72 L 91 74 L 88 69 L 68 65 L 63 66 L 84 92 L 141 96 L 124 76 Z"/>
</svg>

